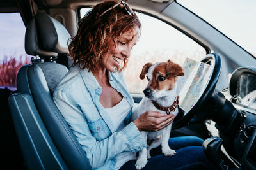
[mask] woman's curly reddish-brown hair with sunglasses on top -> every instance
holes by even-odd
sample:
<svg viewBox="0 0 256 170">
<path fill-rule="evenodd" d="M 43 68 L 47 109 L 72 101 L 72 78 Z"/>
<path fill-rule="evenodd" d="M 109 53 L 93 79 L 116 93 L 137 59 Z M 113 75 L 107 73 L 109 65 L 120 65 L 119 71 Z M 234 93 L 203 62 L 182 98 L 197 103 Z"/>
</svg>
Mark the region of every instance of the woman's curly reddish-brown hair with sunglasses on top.
<svg viewBox="0 0 256 170">
<path fill-rule="evenodd" d="M 68 45 L 70 57 L 74 60 L 73 66 L 78 65 L 80 69 L 97 71 L 104 53 L 108 52 L 110 39 L 118 40 L 124 32 L 133 31 L 134 27 L 141 28 L 137 15 L 135 13 L 129 15 L 122 4 L 100 16 L 116 3 L 119 1 L 99 3 L 79 21 L 77 34 L 70 39 Z M 117 42 L 115 41 L 115 44 Z M 122 71 L 126 65 L 127 58 L 118 70 Z"/>
</svg>

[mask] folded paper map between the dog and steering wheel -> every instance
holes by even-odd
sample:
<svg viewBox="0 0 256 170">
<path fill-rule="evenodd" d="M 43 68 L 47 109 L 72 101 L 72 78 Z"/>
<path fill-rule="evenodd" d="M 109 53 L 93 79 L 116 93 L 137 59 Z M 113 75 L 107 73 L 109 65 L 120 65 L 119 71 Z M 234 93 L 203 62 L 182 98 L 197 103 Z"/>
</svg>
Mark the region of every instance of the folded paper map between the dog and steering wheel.
<svg viewBox="0 0 256 170">
<path fill-rule="evenodd" d="M 182 68 L 185 75 L 178 80 L 179 106 L 186 113 L 196 104 L 212 74 L 213 66 L 186 59 Z"/>
</svg>

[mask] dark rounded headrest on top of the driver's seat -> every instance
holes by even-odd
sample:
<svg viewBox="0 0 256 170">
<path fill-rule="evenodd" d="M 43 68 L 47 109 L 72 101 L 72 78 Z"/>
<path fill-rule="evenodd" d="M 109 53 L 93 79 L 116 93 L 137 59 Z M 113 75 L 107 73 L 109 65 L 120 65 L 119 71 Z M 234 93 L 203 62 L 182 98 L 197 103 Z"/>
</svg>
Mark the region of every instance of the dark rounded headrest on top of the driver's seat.
<svg viewBox="0 0 256 170">
<path fill-rule="evenodd" d="M 25 50 L 29 55 L 56 57 L 68 53 L 67 29 L 45 13 L 37 13 L 28 23 L 25 34 Z"/>
</svg>

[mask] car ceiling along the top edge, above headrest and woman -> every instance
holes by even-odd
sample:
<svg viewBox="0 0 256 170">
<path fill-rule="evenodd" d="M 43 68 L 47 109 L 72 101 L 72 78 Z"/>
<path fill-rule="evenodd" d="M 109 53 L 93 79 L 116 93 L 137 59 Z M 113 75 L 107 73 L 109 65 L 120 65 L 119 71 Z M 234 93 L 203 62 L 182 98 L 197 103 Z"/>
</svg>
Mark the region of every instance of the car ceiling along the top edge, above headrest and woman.
<svg viewBox="0 0 256 170">
<path fill-rule="evenodd" d="M 168 4 L 172 3 L 173 0 L 159 0 L 163 1 L 163 3 L 154 2 L 157 0 L 128 0 L 127 3 L 131 5 L 135 10 L 143 10 L 145 12 L 156 15 L 161 13 L 168 6 Z M 79 6 L 93 6 L 101 1 L 96 0 L 0 0 L 0 12 L 17 12 L 20 11 L 22 13 L 25 10 L 28 13 L 30 10 L 31 15 L 35 15 L 39 10 L 49 10 L 49 9 L 70 9 L 76 10 Z M 30 17 L 32 17 L 30 16 Z M 23 17 L 26 20 L 29 20 L 29 17 Z"/>
</svg>

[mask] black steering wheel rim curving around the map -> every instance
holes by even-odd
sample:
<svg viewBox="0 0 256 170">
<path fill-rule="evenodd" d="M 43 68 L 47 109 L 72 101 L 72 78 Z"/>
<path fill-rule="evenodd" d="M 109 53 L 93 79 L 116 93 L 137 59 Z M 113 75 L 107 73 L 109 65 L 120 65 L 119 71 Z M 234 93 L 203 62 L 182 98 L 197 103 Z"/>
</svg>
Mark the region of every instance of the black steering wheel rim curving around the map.
<svg viewBox="0 0 256 170">
<path fill-rule="evenodd" d="M 198 101 L 194 104 L 193 108 L 188 111 L 182 118 L 173 122 L 172 129 L 178 129 L 180 127 L 184 127 L 189 123 L 189 121 L 195 117 L 196 112 L 204 106 L 204 104 L 211 98 L 212 93 L 216 87 L 218 78 L 221 72 L 221 58 L 218 53 L 209 53 L 205 55 L 205 57 L 201 60 L 206 64 L 210 64 L 213 66 L 211 76 L 209 77 L 209 81 L 205 85 L 204 92 L 199 97 Z M 178 116 L 177 116 L 178 117 Z"/>
</svg>

